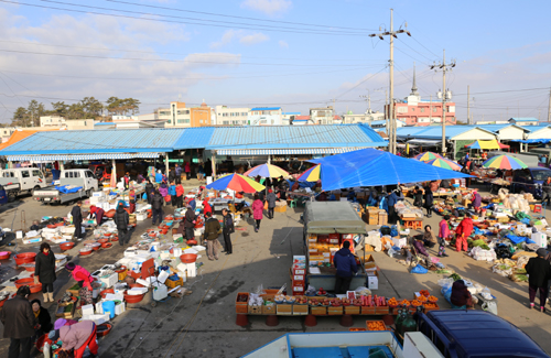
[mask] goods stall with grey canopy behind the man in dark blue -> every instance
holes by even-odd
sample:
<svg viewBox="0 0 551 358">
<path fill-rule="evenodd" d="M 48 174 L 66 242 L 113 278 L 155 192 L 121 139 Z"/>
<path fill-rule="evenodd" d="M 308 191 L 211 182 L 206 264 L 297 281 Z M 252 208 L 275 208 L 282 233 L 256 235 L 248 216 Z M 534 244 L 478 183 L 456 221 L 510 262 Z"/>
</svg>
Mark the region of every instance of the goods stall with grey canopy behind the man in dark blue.
<svg viewBox="0 0 551 358">
<path fill-rule="evenodd" d="M 306 249 L 309 285 L 332 291 L 335 288 L 336 269 L 332 264 L 334 254 L 345 240 L 352 241 L 350 251 L 366 235 L 366 225 L 358 211 L 347 202 L 306 203 L 304 210 L 304 242 Z M 365 257 L 363 258 L 365 261 Z M 359 259 L 357 258 L 357 261 Z M 361 264 L 353 278 L 350 288 L 365 286 L 367 274 Z"/>
</svg>

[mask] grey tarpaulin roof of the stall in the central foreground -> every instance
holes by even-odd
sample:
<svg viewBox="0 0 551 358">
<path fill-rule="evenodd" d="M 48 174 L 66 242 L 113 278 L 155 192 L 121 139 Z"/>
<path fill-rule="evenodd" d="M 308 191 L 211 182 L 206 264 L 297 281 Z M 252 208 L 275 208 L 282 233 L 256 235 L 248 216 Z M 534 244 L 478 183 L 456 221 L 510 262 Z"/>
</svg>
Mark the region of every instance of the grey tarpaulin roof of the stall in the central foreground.
<svg viewBox="0 0 551 358">
<path fill-rule="evenodd" d="M 366 224 L 350 203 L 306 203 L 305 221 L 310 234 L 367 234 Z"/>
</svg>

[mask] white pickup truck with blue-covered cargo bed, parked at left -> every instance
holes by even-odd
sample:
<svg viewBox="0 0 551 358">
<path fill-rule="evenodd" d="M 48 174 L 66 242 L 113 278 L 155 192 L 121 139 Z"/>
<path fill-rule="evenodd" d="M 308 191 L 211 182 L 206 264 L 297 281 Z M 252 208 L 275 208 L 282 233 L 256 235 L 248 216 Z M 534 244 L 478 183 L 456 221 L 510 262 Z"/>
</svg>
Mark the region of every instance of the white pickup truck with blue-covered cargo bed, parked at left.
<svg viewBox="0 0 551 358">
<path fill-rule="evenodd" d="M 83 197 L 90 197 L 98 191 L 98 181 L 87 169 L 64 170 L 60 185 L 51 185 L 34 191 L 34 199 L 43 204 L 64 204 Z"/>
</svg>

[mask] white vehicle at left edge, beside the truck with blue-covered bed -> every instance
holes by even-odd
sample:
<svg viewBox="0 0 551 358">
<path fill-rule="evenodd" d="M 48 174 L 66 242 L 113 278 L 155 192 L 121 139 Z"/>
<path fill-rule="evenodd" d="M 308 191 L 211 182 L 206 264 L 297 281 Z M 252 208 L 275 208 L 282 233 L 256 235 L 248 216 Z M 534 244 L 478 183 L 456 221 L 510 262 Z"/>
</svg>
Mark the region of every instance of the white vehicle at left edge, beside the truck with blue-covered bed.
<svg viewBox="0 0 551 358">
<path fill-rule="evenodd" d="M 1 171 L 0 185 L 3 186 L 9 199 L 13 200 L 21 194 L 33 194 L 47 184 L 44 174 L 37 167 L 13 167 Z"/>
</svg>

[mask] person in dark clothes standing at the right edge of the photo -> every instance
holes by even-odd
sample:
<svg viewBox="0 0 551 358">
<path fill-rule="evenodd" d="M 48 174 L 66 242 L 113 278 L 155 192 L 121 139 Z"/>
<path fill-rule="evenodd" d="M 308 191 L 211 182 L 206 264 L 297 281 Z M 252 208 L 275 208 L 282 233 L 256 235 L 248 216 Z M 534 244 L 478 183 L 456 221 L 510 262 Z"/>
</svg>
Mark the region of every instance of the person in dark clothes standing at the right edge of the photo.
<svg viewBox="0 0 551 358">
<path fill-rule="evenodd" d="M 539 248 L 536 251 L 538 257 L 531 258 L 526 264 L 528 274 L 528 295 L 530 299 L 530 308 L 533 308 L 536 292 L 540 291 L 540 311 L 545 312 L 545 300 L 548 297 L 548 281 L 551 279 L 551 263 L 545 260 L 547 250 Z"/>
</svg>

